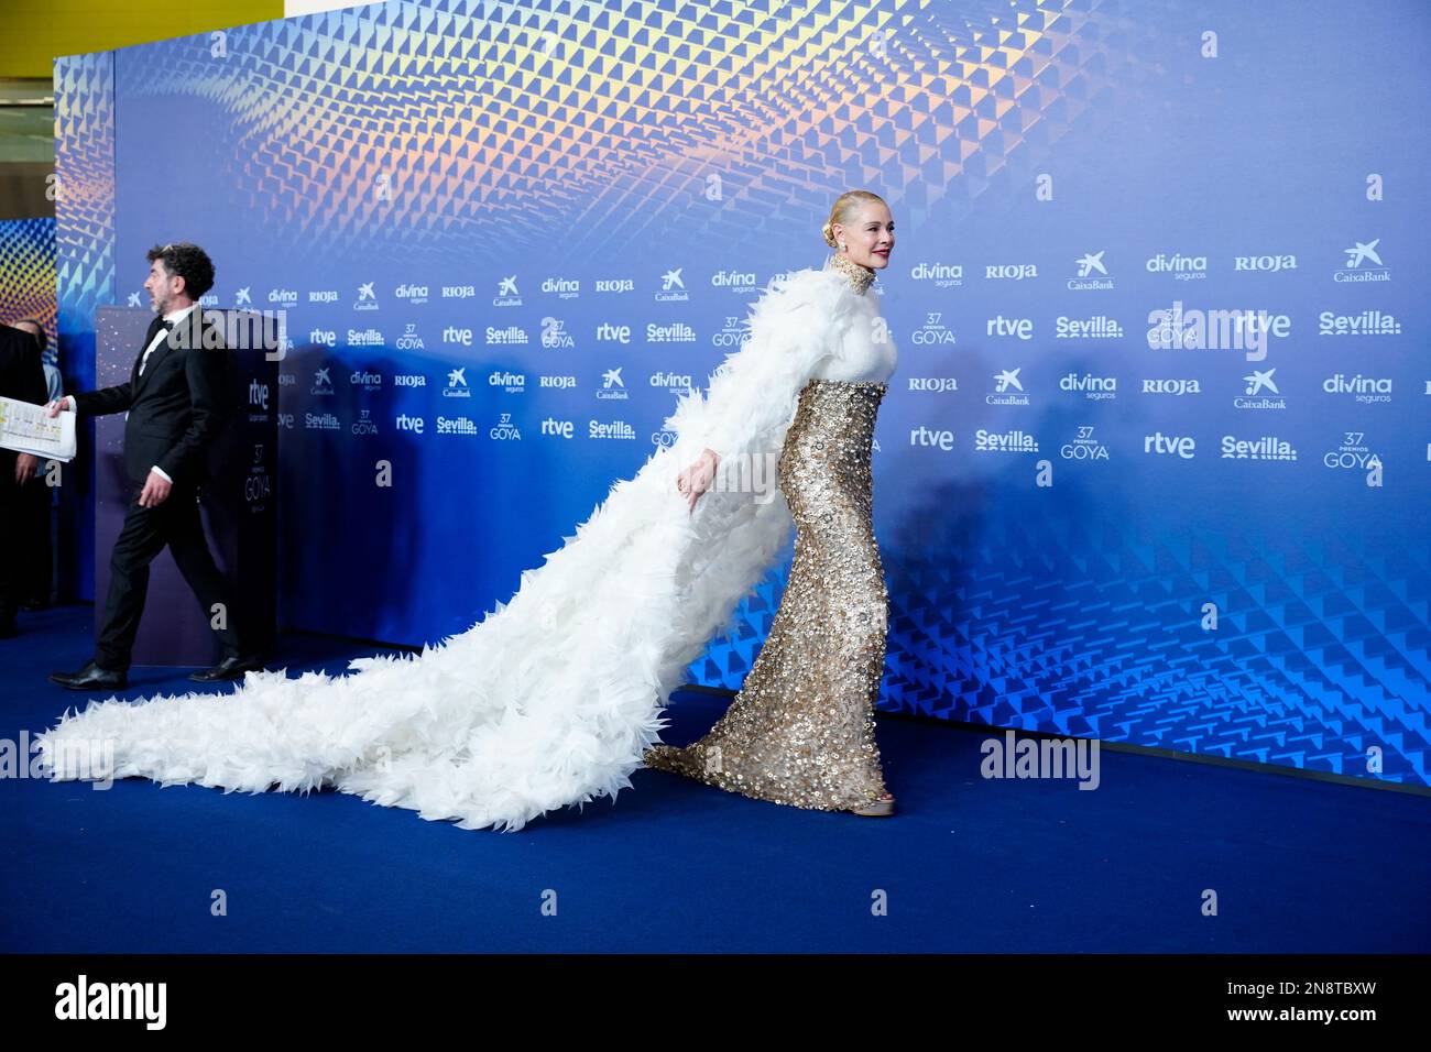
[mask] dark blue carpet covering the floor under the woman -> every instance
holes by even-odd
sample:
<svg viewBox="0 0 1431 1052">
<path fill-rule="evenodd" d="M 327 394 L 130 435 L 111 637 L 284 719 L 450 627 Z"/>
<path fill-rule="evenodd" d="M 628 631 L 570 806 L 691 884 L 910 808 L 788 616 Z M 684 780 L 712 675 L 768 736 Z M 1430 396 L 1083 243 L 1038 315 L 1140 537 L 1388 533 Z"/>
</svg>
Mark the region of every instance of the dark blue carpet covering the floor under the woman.
<svg viewBox="0 0 1431 1052">
<path fill-rule="evenodd" d="M 0 737 L 83 706 L 44 677 L 87 660 L 92 614 L 24 614 L 0 641 Z M 339 671 L 363 653 L 290 635 L 279 664 Z M 185 690 L 183 676 L 135 668 L 127 696 Z M 681 694 L 667 740 L 697 737 L 723 704 Z M 1110 750 L 1080 792 L 982 779 L 987 731 L 881 719 L 879 734 L 893 819 L 660 771 L 505 834 L 332 792 L 6 777 L 0 950 L 1431 949 L 1425 797 Z"/>
</svg>

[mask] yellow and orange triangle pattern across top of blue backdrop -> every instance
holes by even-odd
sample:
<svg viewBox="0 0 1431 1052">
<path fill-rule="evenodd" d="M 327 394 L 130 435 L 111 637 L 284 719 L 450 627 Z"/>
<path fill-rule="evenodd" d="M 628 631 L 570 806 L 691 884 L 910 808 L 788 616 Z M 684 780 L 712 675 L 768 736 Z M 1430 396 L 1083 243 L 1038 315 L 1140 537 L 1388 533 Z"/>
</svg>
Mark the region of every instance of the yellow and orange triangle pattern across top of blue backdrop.
<svg viewBox="0 0 1431 1052">
<path fill-rule="evenodd" d="M 395 229 L 416 268 L 497 232 L 591 252 L 633 212 L 648 233 L 708 213 L 717 249 L 837 186 L 877 185 L 912 223 L 972 200 L 1088 107 L 1089 19 L 1068 0 L 389 3 L 124 49 L 114 83 L 212 107 L 195 147 L 253 173 L 253 235 L 295 262 Z"/>
</svg>

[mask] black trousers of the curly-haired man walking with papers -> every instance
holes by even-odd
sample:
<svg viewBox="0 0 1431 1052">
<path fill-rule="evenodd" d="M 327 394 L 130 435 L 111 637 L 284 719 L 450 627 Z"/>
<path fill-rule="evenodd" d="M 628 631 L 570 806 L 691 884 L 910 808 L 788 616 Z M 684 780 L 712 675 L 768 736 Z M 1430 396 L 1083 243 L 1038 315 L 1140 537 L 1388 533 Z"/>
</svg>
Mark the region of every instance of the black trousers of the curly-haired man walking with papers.
<svg viewBox="0 0 1431 1052">
<path fill-rule="evenodd" d="M 139 634 L 139 618 L 145 613 L 149 591 L 149 564 L 169 547 L 183 580 L 199 597 L 203 615 L 213 624 L 215 604 L 223 604 L 223 628 L 215 635 L 223 644 L 225 657 L 240 657 L 243 646 L 235 620 L 229 585 L 209 554 L 199 517 L 197 491 L 193 487 L 173 487 L 157 508 L 142 508 L 137 490 L 124 512 L 124 525 L 114 541 L 110 557 L 109 598 L 104 601 L 104 625 L 94 641 L 94 664 L 110 671 L 127 671 Z"/>
</svg>

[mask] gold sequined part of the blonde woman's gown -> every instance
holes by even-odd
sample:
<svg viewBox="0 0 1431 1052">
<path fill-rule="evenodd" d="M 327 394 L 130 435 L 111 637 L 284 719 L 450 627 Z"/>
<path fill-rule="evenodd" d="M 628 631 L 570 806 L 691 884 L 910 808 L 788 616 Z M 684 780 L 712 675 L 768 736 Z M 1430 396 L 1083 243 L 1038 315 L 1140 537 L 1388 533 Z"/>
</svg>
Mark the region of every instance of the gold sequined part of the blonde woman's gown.
<svg viewBox="0 0 1431 1052">
<path fill-rule="evenodd" d="M 817 810 L 860 807 L 886 794 L 874 704 L 889 598 L 870 475 L 886 389 L 826 378 L 801 389 L 778 459 L 796 525 L 794 561 L 770 634 L 710 733 L 684 749 L 654 746 L 647 767 Z"/>
</svg>

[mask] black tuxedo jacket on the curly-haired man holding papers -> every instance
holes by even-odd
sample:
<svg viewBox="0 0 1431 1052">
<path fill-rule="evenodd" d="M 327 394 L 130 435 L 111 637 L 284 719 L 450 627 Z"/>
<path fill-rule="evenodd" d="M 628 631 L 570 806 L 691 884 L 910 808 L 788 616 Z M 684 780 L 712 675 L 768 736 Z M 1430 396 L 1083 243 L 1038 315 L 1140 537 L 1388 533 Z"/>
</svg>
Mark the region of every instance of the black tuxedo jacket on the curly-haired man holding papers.
<svg viewBox="0 0 1431 1052">
<path fill-rule="evenodd" d="M 209 477 L 207 452 L 228 417 L 229 352 L 210 319 L 195 325 L 195 308 L 139 364 L 159 331 L 156 318 L 145 336 L 127 384 L 74 395 L 80 412 L 129 412 L 124 421 L 124 469 L 143 485 L 157 467 L 175 485 L 197 485 Z"/>
</svg>

